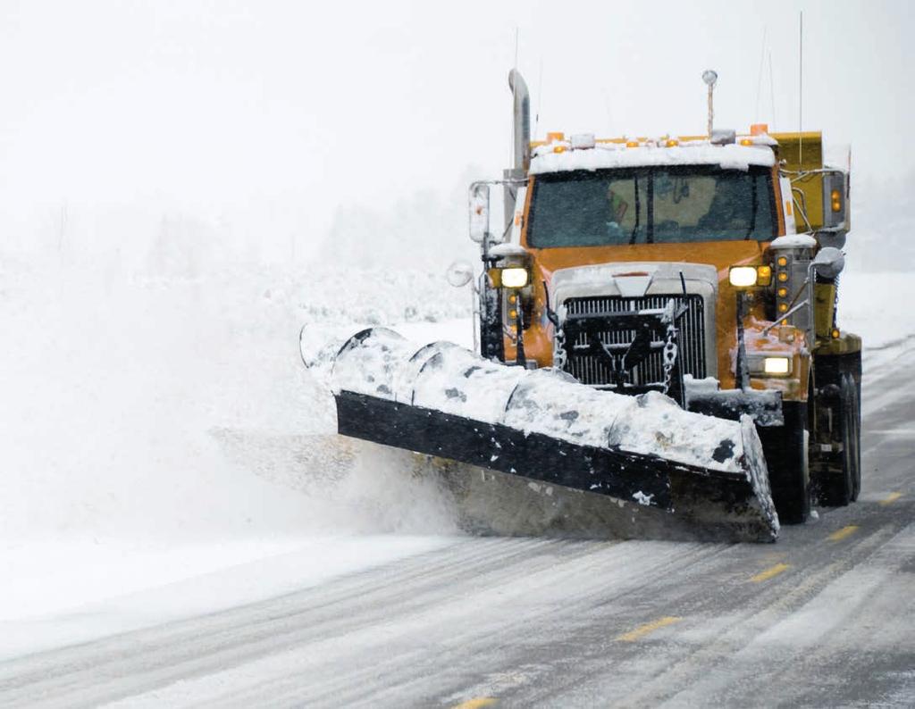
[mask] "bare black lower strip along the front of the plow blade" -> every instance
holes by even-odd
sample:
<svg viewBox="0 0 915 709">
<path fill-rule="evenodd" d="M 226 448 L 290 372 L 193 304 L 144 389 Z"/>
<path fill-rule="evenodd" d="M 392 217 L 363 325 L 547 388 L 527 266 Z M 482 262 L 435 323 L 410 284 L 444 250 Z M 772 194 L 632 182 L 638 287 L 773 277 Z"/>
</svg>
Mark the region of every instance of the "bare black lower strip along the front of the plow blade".
<svg viewBox="0 0 915 709">
<path fill-rule="evenodd" d="M 587 493 L 590 507 L 599 503 L 593 495 L 603 496 L 606 510 L 652 517 L 652 529 L 665 528 L 620 533 L 616 525 L 608 536 L 767 542 L 775 538 L 777 526 L 773 529 L 760 510 L 752 484 L 741 473 L 618 447 L 580 446 L 361 393 L 341 391 L 335 399 L 340 435 Z M 630 503 L 628 510 L 621 510 L 616 500 Z"/>
</svg>

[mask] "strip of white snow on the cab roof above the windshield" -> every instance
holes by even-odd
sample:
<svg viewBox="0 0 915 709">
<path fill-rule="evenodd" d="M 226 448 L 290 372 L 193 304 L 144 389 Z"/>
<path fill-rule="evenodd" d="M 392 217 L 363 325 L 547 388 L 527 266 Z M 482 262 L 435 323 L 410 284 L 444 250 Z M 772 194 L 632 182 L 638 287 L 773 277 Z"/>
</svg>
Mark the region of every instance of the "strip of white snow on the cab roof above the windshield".
<svg viewBox="0 0 915 709">
<path fill-rule="evenodd" d="M 588 148 L 573 148 L 565 142 L 549 143 L 534 148 L 531 174 L 666 165 L 714 165 L 746 172 L 751 165 L 772 167 L 775 165 L 775 153 L 769 145 L 711 145 L 706 141 L 681 143 L 673 147 L 651 142 L 638 147 L 597 143 Z"/>
</svg>

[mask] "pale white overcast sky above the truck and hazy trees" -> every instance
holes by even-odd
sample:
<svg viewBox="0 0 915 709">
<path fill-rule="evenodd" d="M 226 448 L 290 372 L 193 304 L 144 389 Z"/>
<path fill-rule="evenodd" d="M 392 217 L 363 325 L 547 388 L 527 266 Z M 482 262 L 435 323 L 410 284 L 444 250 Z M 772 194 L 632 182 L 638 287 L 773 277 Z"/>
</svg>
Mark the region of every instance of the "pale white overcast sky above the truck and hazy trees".
<svg viewBox="0 0 915 709">
<path fill-rule="evenodd" d="M 541 134 L 701 132 L 706 68 L 720 76 L 716 124 L 793 129 L 801 9 L 803 127 L 851 143 L 859 175 L 915 167 L 915 23 L 902 2 L 0 8 L 6 210 L 295 204 L 322 231 L 341 204 L 451 189 L 468 166 L 493 176 L 509 154 L 516 27 Z"/>
</svg>

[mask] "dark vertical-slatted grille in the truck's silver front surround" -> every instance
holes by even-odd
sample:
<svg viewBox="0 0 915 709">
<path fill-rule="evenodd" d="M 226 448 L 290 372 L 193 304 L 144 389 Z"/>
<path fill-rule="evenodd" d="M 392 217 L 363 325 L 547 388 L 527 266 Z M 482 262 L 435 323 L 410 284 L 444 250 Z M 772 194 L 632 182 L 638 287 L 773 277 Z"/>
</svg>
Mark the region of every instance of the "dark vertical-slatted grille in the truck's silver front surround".
<svg viewBox="0 0 915 709">
<path fill-rule="evenodd" d="M 569 315 L 594 315 L 597 313 L 623 313 L 630 310 L 658 309 L 667 306 L 673 298 L 679 306 L 684 295 L 646 295 L 640 298 L 625 298 L 618 295 L 601 295 L 587 298 L 569 298 L 565 307 Z M 702 295 L 686 295 L 687 310 L 680 318 L 678 349 L 684 374 L 696 379 L 705 377 L 705 302 Z M 600 333 L 605 345 L 628 345 L 635 338 L 635 330 L 616 330 Z M 583 384 L 600 386 L 612 382 L 612 373 L 607 364 L 596 355 L 576 354 L 574 346 L 587 346 L 587 335 L 581 333 L 571 343 L 569 357 L 565 362 L 568 371 Z M 664 363 L 661 351 L 651 354 L 630 371 L 630 384 L 644 386 L 664 381 Z"/>
</svg>

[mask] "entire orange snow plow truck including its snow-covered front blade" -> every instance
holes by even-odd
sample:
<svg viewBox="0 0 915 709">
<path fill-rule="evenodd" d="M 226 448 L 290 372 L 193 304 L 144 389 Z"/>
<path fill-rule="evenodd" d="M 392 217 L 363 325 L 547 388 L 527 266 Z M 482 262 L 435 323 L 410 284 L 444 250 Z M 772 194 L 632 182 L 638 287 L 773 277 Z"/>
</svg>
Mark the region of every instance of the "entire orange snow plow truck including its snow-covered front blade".
<svg viewBox="0 0 915 709">
<path fill-rule="evenodd" d="M 623 536 L 772 541 L 814 499 L 856 500 L 848 163 L 824 164 L 819 133 L 737 134 L 711 111 L 704 135 L 532 143 L 517 70 L 509 84 L 514 164 L 469 189 L 479 277 L 449 274 L 474 287 L 476 351 L 384 328 L 329 357 L 303 344 L 329 359 L 339 434 L 561 491 L 563 515 L 612 510 Z"/>
</svg>

